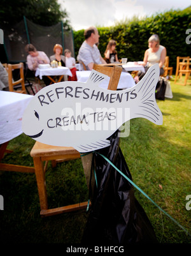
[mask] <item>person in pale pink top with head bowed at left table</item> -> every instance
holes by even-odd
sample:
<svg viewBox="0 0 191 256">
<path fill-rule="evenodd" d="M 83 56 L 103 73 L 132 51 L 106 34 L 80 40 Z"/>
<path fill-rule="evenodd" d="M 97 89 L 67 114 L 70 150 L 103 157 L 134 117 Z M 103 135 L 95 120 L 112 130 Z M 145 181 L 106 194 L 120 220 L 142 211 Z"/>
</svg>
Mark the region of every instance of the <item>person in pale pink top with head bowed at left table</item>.
<svg viewBox="0 0 191 256">
<path fill-rule="evenodd" d="M 50 59 L 48 59 L 45 52 L 36 50 L 34 45 L 31 43 L 25 46 L 25 51 L 29 54 L 27 56 L 27 66 L 29 70 L 33 71 L 33 73 L 35 73 L 39 64 L 50 64 Z M 45 82 L 46 86 L 48 86 L 51 82 L 46 76 L 43 76 L 43 81 Z"/>
</svg>

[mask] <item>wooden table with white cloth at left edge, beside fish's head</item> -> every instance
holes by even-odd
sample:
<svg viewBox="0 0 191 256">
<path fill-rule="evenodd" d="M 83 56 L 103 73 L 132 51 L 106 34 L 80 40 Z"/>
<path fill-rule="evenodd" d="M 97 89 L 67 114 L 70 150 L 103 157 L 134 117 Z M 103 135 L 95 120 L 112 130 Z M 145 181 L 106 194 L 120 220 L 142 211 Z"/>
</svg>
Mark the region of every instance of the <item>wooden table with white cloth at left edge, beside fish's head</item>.
<svg viewBox="0 0 191 256">
<path fill-rule="evenodd" d="M 22 115 L 32 95 L 0 91 L 0 170 L 34 172 L 34 167 L 1 163 L 8 143 L 22 133 Z"/>
</svg>

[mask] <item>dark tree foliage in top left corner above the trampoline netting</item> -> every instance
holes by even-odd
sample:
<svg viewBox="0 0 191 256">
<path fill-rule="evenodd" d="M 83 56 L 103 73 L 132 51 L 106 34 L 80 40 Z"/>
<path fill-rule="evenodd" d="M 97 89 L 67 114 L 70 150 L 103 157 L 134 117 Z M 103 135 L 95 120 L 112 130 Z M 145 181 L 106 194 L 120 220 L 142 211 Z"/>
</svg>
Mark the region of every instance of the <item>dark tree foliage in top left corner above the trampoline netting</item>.
<svg viewBox="0 0 191 256">
<path fill-rule="evenodd" d="M 64 28 L 69 29 L 67 11 L 61 10 L 57 0 L 1 0 L 0 22 L 15 24 L 23 17 L 41 26 L 52 26 L 62 20 Z"/>
</svg>

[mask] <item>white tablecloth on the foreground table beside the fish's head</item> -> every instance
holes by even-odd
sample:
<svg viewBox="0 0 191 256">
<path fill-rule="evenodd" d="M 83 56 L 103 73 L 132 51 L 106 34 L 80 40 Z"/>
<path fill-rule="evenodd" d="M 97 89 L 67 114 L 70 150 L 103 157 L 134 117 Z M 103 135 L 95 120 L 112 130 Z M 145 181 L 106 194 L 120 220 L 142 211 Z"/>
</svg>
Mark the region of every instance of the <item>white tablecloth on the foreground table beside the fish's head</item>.
<svg viewBox="0 0 191 256">
<path fill-rule="evenodd" d="M 0 144 L 22 133 L 22 115 L 32 95 L 0 91 Z"/>
</svg>

